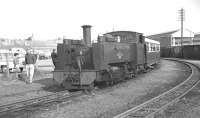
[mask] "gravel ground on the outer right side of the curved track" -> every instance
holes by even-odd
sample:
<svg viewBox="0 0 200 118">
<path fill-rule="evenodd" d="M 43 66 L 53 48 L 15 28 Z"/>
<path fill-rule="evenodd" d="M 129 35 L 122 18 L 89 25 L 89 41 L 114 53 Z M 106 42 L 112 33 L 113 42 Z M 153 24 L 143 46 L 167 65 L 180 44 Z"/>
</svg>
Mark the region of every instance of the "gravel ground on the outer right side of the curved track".
<svg viewBox="0 0 200 118">
<path fill-rule="evenodd" d="M 200 66 L 200 61 L 190 62 Z M 156 118 L 200 118 L 200 84 L 177 103 L 157 114 Z"/>
</svg>

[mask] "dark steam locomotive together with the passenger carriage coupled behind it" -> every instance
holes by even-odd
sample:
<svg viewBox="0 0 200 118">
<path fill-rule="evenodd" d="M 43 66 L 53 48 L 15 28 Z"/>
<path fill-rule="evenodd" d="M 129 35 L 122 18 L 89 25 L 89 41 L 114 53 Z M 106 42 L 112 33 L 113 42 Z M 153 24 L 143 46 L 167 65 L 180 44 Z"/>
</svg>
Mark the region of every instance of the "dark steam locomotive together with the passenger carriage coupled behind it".
<svg viewBox="0 0 200 118">
<path fill-rule="evenodd" d="M 53 78 L 66 89 L 92 89 L 95 82 L 133 78 L 160 60 L 160 43 L 142 33 L 113 31 L 91 44 L 91 26 L 82 27 L 83 40 L 65 39 L 57 45 Z"/>
</svg>

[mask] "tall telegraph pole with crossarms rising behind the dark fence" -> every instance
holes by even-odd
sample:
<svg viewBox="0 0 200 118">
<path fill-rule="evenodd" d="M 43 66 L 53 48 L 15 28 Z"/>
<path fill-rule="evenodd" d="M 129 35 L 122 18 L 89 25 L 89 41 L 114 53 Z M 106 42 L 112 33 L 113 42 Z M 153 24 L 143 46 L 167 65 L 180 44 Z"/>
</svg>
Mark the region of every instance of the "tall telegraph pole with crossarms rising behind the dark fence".
<svg viewBox="0 0 200 118">
<path fill-rule="evenodd" d="M 179 20 L 181 21 L 181 57 L 183 57 L 183 21 L 185 21 L 185 10 L 179 10 Z"/>
</svg>

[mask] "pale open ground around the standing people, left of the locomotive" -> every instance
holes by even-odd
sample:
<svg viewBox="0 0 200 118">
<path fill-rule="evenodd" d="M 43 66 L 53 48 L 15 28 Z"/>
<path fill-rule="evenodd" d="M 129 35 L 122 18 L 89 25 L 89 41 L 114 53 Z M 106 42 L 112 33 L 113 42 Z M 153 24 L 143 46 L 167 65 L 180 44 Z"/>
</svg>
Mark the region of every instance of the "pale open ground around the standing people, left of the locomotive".
<svg viewBox="0 0 200 118">
<path fill-rule="evenodd" d="M 48 66 L 48 63 L 50 66 Z M 4 73 L 1 73 L 0 104 L 8 104 L 19 100 L 48 95 L 60 90 L 53 81 L 52 70 L 51 60 L 41 61 L 34 73 L 34 82 L 32 84 L 26 84 L 24 79 L 21 78 L 16 79 L 15 73 L 10 73 L 9 78 Z M 25 72 L 23 74 L 25 75 Z"/>
</svg>

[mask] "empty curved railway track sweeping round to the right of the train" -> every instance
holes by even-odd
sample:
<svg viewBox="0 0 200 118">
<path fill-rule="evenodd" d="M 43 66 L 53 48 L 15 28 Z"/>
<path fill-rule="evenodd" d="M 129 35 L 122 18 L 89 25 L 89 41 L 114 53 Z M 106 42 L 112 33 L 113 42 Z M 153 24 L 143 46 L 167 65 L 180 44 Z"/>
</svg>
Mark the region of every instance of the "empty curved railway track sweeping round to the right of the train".
<svg viewBox="0 0 200 118">
<path fill-rule="evenodd" d="M 177 59 L 170 60 L 185 63 L 191 68 L 192 74 L 187 78 L 187 80 L 172 88 L 171 90 L 149 101 L 146 101 L 139 106 L 118 114 L 114 118 L 153 118 L 156 113 L 163 111 L 167 106 L 178 101 L 200 82 L 200 67 L 192 63 L 180 61 Z"/>
</svg>

